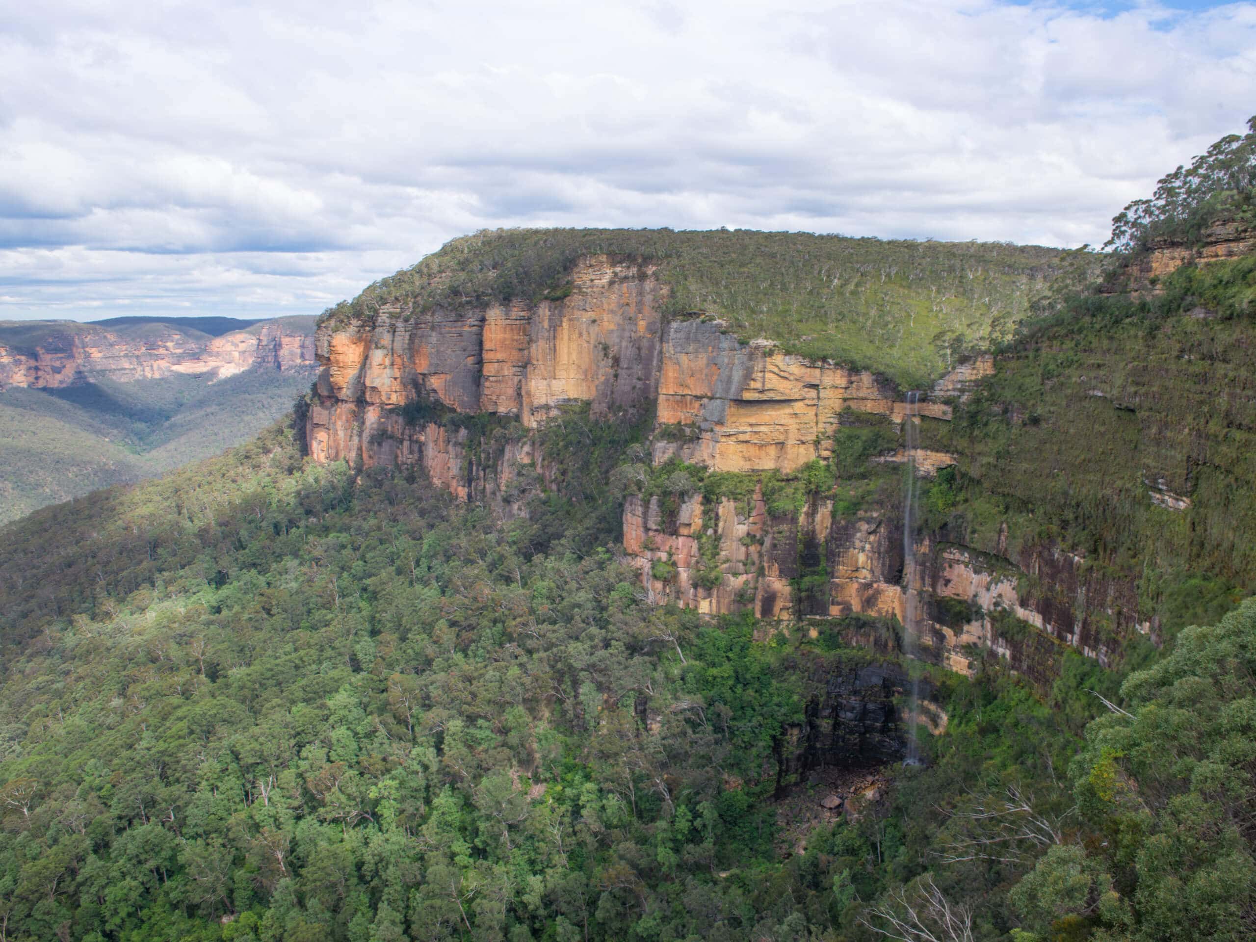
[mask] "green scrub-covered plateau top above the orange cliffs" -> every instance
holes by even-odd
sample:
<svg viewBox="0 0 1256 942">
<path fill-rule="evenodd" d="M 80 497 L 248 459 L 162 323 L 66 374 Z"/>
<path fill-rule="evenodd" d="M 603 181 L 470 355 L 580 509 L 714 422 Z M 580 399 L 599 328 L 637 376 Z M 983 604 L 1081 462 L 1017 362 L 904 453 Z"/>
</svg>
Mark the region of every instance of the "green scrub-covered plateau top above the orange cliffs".
<svg viewBox="0 0 1256 942">
<path fill-rule="evenodd" d="M 1006 242 L 852 239 L 751 230 L 509 229 L 455 239 L 324 311 L 329 328 L 433 309 L 556 300 L 590 255 L 654 269 L 667 314 L 718 317 L 740 338 L 918 387 L 1011 334 L 1079 254 Z M 1088 256 L 1094 257 L 1094 256 Z"/>
</svg>

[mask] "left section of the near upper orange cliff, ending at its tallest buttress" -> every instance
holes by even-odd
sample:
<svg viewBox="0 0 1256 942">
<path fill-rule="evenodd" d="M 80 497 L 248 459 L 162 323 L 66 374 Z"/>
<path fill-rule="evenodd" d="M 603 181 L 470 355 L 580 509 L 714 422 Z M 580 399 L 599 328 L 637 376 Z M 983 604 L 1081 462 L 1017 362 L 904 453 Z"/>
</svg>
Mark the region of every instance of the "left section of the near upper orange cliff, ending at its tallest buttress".
<svg viewBox="0 0 1256 942">
<path fill-rule="evenodd" d="M 512 416 L 526 428 L 568 403 L 644 409 L 658 387 L 664 290 L 648 269 L 594 257 L 566 298 L 461 313 L 394 304 L 371 324 L 320 328 L 309 452 L 365 467 L 456 462 L 448 442 L 391 412 L 409 403 Z"/>
</svg>

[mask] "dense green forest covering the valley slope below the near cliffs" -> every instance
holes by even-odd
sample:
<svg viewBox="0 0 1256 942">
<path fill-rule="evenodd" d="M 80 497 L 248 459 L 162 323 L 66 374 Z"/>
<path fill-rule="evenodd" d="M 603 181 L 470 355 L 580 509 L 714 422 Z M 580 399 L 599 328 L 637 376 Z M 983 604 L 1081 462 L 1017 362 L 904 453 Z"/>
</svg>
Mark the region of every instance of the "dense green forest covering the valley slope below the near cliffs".
<svg viewBox="0 0 1256 942">
<path fill-rule="evenodd" d="M 997 666 L 943 678 L 967 732 L 929 776 L 782 858 L 764 799 L 806 664 L 872 654 L 644 604 L 610 534 L 550 540 L 544 504 L 496 528 L 274 430 L 10 526 L 6 938 L 863 936 L 950 839 L 914 803 L 1066 764 Z M 1006 926 L 1030 859 L 942 879 Z"/>
</svg>

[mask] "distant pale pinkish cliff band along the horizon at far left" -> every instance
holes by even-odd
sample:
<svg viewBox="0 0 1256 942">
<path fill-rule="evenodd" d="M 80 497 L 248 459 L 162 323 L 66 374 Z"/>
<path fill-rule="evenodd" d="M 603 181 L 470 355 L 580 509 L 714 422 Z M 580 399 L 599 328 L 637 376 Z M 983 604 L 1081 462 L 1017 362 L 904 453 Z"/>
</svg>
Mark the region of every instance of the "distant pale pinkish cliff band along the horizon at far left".
<svg viewBox="0 0 1256 942">
<path fill-rule="evenodd" d="M 180 373 L 222 379 L 254 365 L 284 371 L 317 362 L 313 334 L 286 320 L 221 337 L 165 324 L 142 329 L 70 323 L 20 327 L 30 335 L 21 344 L 6 343 L 0 333 L 0 389 L 58 389 L 99 379 L 134 382 Z"/>
</svg>

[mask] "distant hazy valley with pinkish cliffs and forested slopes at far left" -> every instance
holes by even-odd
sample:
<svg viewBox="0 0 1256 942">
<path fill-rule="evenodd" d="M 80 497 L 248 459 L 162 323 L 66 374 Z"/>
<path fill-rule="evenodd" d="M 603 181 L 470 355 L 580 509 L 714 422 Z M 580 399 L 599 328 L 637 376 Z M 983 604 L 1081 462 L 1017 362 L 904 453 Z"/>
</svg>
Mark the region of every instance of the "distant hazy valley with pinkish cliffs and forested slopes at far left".
<svg viewBox="0 0 1256 942">
<path fill-rule="evenodd" d="M 313 379 L 311 317 L 178 320 L 0 323 L 0 522 L 216 455 Z"/>
</svg>

